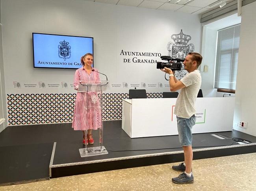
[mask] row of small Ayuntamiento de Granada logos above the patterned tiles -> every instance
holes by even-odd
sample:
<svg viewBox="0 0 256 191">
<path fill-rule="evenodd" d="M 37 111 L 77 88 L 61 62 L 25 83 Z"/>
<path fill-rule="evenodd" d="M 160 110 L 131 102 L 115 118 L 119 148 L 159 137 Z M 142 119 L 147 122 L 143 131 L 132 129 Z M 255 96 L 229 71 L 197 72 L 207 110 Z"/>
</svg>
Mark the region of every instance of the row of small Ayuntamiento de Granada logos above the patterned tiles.
<svg viewBox="0 0 256 191">
<path fill-rule="evenodd" d="M 20 83 L 20 82 L 13 82 L 14 88 L 74 88 L 73 84 L 67 82 L 60 82 L 60 83 L 45 83 L 45 82 L 38 82 L 38 83 Z M 164 88 L 170 87 L 169 84 L 164 84 L 163 82 L 154 82 L 154 83 L 147 83 L 147 82 L 122 82 L 122 83 L 109 83 L 108 88 Z"/>
</svg>

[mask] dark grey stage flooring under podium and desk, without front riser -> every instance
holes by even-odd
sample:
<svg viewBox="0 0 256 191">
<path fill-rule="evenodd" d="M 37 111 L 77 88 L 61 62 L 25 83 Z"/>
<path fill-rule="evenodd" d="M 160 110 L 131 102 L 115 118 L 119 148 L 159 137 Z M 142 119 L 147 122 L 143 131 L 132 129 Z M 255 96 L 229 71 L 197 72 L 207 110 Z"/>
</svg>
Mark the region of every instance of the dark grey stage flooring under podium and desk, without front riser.
<svg viewBox="0 0 256 191">
<path fill-rule="evenodd" d="M 178 136 L 176 135 L 131 139 L 121 129 L 120 120 L 107 121 L 104 122 L 104 125 L 103 145 L 106 147 L 109 154 L 84 158 L 81 158 L 78 152 L 79 148 L 83 148 L 82 132 L 74 131 L 71 128 L 71 124 L 7 127 L 0 133 L 0 185 L 49 178 L 49 164 L 54 142 L 56 142 L 56 153 L 54 155 L 53 164 L 182 150 L 179 145 Z M 232 139 L 220 140 L 210 134 L 211 133 L 194 134 L 193 149 L 237 144 Z M 216 134 L 225 134 L 231 137 L 251 140 L 254 143 L 256 142 L 256 137 L 239 131 L 220 132 Z M 98 136 L 97 131 L 94 132 L 94 136 L 96 140 Z M 94 146 L 96 146 L 96 144 L 97 143 L 95 143 Z M 252 151 L 249 151 L 247 153 L 251 152 Z M 207 154 L 209 157 L 198 155 L 199 154 L 195 155 L 196 159 L 215 157 L 214 155 L 210 156 L 210 153 Z M 200 153 L 200 155 L 205 154 Z M 222 156 L 225 155 L 226 153 Z M 228 155 L 234 154 L 229 153 Z M 171 160 L 167 162 L 171 162 Z M 159 164 L 163 163 L 166 162 Z M 115 164 L 113 164 L 113 166 L 115 166 Z"/>
</svg>

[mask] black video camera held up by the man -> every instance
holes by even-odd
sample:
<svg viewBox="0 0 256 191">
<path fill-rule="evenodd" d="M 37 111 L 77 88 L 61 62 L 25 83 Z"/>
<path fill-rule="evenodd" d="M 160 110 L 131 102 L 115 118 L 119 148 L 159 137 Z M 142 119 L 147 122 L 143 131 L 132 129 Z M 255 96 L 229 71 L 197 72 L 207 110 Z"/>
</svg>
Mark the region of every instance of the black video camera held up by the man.
<svg viewBox="0 0 256 191">
<path fill-rule="evenodd" d="M 160 56 L 162 60 L 167 60 L 168 62 L 156 62 L 157 69 L 164 69 L 164 67 L 170 68 L 172 71 L 181 70 L 182 63 L 185 59 L 172 58 L 171 56 Z M 176 62 L 173 62 L 176 61 Z"/>
</svg>

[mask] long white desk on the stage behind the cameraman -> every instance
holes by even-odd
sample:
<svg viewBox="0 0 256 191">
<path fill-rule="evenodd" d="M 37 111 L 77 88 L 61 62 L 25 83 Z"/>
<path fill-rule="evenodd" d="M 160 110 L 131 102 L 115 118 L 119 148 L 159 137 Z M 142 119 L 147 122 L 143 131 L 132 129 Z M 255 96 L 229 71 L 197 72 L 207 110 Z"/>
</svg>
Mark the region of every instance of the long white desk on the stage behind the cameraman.
<svg viewBox="0 0 256 191">
<path fill-rule="evenodd" d="M 176 98 L 122 100 L 122 129 L 131 137 L 178 135 Z M 193 133 L 232 131 L 234 97 L 197 98 Z"/>
</svg>

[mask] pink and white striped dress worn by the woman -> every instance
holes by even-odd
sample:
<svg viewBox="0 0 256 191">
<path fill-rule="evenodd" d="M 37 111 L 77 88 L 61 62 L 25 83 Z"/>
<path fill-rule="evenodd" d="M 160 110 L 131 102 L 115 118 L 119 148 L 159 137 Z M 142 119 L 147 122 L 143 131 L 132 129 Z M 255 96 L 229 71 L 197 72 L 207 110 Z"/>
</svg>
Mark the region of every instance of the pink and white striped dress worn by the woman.
<svg viewBox="0 0 256 191">
<path fill-rule="evenodd" d="M 95 68 L 93 69 L 98 71 Z M 100 81 L 99 73 L 95 71 L 91 71 L 91 74 L 89 75 L 83 67 L 77 69 L 74 76 L 74 89 L 78 89 L 80 80 Z M 95 98 L 97 98 L 96 101 Z M 98 94 L 96 92 L 77 93 L 72 128 L 74 128 L 74 130 L 101 128 L 101 109 Z"/>
</svg>

